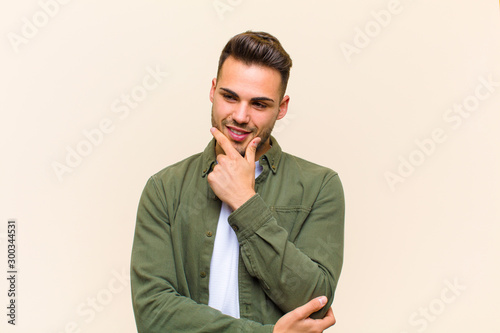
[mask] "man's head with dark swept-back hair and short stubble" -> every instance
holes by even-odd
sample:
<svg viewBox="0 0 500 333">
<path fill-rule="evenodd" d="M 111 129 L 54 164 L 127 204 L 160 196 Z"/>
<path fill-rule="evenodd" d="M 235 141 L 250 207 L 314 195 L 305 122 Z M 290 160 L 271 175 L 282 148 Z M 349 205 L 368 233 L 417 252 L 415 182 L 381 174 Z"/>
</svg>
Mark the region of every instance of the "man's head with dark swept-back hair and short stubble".
<svg viewBox="0 0 500 333">
<path fill-rule="evenodd" d="M 241 155 L 257 136 L 261 142 L 256 158 L 270 148 L 274 124 L 288 109 L 289 97 L 284 93 L 291 65 L 290 56 L 268 33 L 247 31 L 224 47 L 210 90 L 212 126 Z M 216 149 L 222 153 L 220 146 Z"/>
</svg>

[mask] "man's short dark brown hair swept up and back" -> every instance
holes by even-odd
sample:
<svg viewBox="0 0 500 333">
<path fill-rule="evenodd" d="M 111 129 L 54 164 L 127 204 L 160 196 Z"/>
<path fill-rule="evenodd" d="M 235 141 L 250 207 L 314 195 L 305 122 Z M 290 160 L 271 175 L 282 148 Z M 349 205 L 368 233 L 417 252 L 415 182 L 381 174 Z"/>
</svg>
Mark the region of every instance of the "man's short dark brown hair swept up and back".
<svg viewBox="0 0 500 333">
<path fill-rule="evenodd" d="M 247 31 L 231 38 L 220 55 L 217 77 L 219 77 L 222 64 L 229 56 L 247 65 L 263 65 L 280 72 L 281 97 L 283 97 L 290 76 L 292 59 L 276 37 L 267 32 Z"/>
</svg>

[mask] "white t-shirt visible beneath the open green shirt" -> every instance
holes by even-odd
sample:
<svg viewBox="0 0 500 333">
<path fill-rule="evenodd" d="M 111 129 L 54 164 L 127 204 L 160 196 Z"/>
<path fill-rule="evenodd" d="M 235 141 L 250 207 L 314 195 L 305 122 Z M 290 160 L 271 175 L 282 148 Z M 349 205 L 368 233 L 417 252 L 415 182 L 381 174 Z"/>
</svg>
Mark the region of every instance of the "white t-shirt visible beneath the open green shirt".
<svg viewBox="0 0 500 333">
<path fill-rule="evenodd" d="M 255 162 L 255 178 L 261 172 L 262 166 L 257 161 Z M 240 245 L 236 233 L 227 222 L 227 218 L 231 213 L 231 208 L 223 202 L 210 262 L 208 305 L 224 314 L 239 318 L 238 258 Z"/>
</svg>

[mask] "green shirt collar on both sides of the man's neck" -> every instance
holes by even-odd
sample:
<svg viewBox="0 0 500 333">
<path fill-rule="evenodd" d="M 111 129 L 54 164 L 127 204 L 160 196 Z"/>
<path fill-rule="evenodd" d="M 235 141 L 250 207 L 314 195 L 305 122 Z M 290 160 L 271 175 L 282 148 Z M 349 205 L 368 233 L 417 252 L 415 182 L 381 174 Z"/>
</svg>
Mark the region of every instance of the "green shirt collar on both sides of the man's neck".
<svg viewBox="0 0 500 333">
<path fill-rule="evenodd" d="M 276 174 L 276 172 L 278 172 L 278 166 L 281 160 L 282 150 L 280 145 L 278 144 L 278 141 L 276 141 L 276 139 L 272 135 L 270 139 L 271 139 L 271 148 L 269 148 L 269 150 L 259 158 L 259 163 L 264 168 L 264 171 L 266 169 L 270 169 L 273 172 L 273 174 Z M 203 170 L 201 172 L 201 176 L 205 177 L 212 171 L 216 162 L 215 138 L 213 138 L 208 143 L 207 147 L 205 148 L 201 156 L 203 161 L 202 164 Z"/>
</svg>

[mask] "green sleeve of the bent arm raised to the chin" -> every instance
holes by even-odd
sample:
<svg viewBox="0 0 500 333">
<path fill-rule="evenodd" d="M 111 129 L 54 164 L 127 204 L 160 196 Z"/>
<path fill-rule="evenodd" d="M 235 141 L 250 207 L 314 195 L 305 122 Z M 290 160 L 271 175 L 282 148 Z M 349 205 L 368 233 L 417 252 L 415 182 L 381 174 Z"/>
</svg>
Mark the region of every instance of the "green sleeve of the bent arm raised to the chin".
<svg viewBox="0 0 500 333">
<path fill-rule="evenodd" d="M 311 317 L 324 317 L 331 306 L 343 262 L 344 206 L 334 173 L 324 181 L 293 243 L 259 194 L 229 216 L 247 270 L 282 311 L 323 295 L 328 303 Z"/>
</svg>

